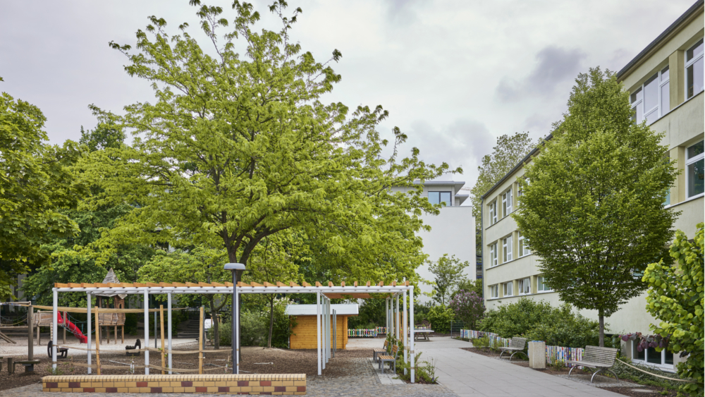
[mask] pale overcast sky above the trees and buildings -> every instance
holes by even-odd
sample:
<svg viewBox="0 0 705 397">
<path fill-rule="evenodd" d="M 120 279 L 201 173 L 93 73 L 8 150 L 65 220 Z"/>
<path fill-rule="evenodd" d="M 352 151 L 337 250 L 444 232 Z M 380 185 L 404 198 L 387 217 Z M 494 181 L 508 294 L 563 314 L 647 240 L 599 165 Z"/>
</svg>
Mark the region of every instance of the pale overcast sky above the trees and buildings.
<svg viewBox="0 0 705 397">
<path fill-rule="evenodd" d="M 266 6 L 255 8 L 267 14 Z M 644 49 L 694 0 L 621 1 L 295 1 L 303 10 L 292 37 L 319 61 L 333 49 L 343 76 L 325 102 L 381 104 L 398 126 L 405 150 L 465 173 L 496 137 L 529 131 L 542 137 L 560 119 L 577 73 L 591 66 L 614 71 Z M 226 8 L 229 1 L 211 1 Z M 0 90 L 39 106 L 51 143 L 78 140 L 96 124 L 87 106 L 121 113 L 152 99 L 144 80 L 123 70 L 110 41 L 135 44 L 147 16 L 165 18 L 171 32 L 189 22 L 188 1 L 0 0 Z"/>
</svg>

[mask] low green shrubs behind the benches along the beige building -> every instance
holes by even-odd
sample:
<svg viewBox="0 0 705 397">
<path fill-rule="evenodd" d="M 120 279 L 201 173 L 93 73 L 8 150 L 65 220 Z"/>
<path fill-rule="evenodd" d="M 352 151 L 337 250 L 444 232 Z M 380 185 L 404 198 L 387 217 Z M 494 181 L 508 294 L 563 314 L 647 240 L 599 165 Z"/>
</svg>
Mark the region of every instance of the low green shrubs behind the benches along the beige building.
<svg viewBox="0 0 705 397">
<path fill-rule="evenodd" d="M 584 348 L 599 342 L 598 322 L 573 312 L 569 304 L 553 307 L 545 300 L 520 298 L 485 314 L 480 331 L 502 338 L 522 336 L 532 341 L 545 341 L 549 346 Z"/>
</svg>

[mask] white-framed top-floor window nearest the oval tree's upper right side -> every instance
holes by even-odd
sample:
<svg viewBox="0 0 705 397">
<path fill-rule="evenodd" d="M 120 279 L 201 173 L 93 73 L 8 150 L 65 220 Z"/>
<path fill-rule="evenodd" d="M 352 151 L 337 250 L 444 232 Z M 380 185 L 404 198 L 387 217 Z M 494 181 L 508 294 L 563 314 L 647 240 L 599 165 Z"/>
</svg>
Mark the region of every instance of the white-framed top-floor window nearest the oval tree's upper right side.
<svg viewBox="0 0 705 397">
<path fill-rule="evenodd" d="M 630 98 L 634 114 L 632 119 L 646 124 L 654 123 L 670 110 L 668 66 L 654 73 L 644 84 L 632 92 Z"/>
</svg>

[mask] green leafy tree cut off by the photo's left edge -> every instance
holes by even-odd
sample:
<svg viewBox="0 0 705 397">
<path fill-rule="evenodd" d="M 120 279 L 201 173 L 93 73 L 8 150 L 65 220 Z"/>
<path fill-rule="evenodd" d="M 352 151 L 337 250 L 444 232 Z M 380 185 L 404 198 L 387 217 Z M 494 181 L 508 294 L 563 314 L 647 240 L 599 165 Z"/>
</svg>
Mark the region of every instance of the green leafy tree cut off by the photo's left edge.
<svg viewBox="0 0 705 397">
<path fill-rule="evenodd" d="M 44 143 L 45 121 L 37 106 L 0 95 L 0 300 L 11 298 L 18 274 L 49 261 L 42 244 L 78 233 L 61 209 L 84 191 L 70 168 L 80 150 L 70 140 Z"/>
</svg>

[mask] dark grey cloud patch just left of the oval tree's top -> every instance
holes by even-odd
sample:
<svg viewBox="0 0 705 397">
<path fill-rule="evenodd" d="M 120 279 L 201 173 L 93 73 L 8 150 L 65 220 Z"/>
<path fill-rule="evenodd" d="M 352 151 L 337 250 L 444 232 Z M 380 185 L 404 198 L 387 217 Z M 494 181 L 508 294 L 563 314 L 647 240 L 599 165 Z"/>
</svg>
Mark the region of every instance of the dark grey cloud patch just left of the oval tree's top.
<svg viewBox="0 0 705 397">
<path fill-rule="evenodd" d="M 547 97 L 575 78 L 582 60 L 587 55 L 580 49 L 563 49 L 549 45 L 536 54 L 537 65 L 522 80 L 503 78 L 496 94 L 503 102 L 513 102 L 525 97 Z"/>
</svg>

